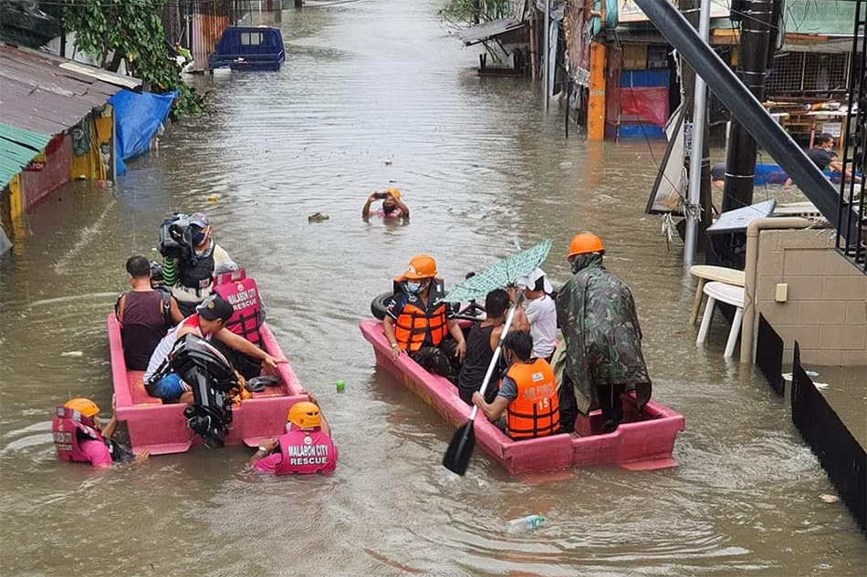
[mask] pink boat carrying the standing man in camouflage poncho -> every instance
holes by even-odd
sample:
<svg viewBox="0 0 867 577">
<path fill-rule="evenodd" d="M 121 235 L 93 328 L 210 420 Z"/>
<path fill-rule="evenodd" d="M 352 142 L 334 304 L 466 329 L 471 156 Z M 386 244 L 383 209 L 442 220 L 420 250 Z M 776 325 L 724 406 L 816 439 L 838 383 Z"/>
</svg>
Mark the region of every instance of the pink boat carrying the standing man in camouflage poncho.
<svg viewBox="0 0 867 577">
<path fill-rule="evenodd" d="M 373 345 L 377 365 L 401 380 L 454 427 L 466 423 L 471 407 L 458 397 L 454 385 L 428 373 L 407 355 L 392 361 L 380 321 L 361 321 L 360 329 Z M 579 417 L 574 435 L 523 441 L 514 441 L 485 418 L 476 418 L 475 442 L 512 475 L 605 464 L 624 469 L 674 467 L 674 439 L 684 430 L 684 417 L 653 400 L 639 417 L 634 397 L 627 395 L 623 396 L 623 411 L 626 422 L 613 433 L 594 434 L 601 427 L 601 414 L 595 411 L 590 417 Z"/>
</svg>

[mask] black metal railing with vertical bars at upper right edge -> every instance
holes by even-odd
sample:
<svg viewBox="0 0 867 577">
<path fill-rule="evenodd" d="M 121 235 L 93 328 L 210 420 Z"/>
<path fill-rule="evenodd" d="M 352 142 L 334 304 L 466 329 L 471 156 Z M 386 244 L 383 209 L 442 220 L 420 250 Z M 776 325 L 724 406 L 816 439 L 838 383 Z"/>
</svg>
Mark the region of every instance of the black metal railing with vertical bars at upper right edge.
<svg viewBox="0 0 867 577">
<path fill-rule="evenodd" d="M 859 43 L 861 46 L 858 46 Z M 861 57 L 857 57 L 858 53 Z M 867 167 L 867 2 L 855 3 L 855 28 L 849 71 L 849 112 L 841 132 L 843 170 L 837 211 L 836 248 L 844 258 L 867 274 L 867 212 L 865 184 L 845 178 L 846 172 L 863 174 Z M 857 111 L 855 107 L 857 106 Z M 848 129 L 852 129 L 851 136 Z M 849 138 L 847 138 L 849 137 Z M 854 209 L 854 210 L 851 210 Z"/>
</svg>

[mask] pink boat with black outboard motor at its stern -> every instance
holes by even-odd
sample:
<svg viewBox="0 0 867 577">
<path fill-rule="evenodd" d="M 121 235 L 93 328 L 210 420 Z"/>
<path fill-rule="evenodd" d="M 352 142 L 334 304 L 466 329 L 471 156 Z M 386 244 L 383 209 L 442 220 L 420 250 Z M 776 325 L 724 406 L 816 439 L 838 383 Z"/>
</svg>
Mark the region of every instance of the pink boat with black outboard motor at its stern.
<svg viewBox="0 0 867 577">
<path fill-rule="evenodd" d="M 150 397 L 141 384 L 141 371 L 127 371 L 120 342 L 120 325 L 115 315 L 109 314 L 109 348 L 111 378 L 117 397 L 118 419 L 127 424 L 134 450 L 146 449 L 151 455 L 183 453 L 195 445 L 204 445 L 202 439 L 187 428 L 183 417 L 185 405 L 163 405 Z M 259 329 L 262 345 L 269 355 L 284 358 L 280 345 L 270 329 L 263 323 Z M 282 363 L 276 373 L 281 385 L 268 387 L 263 393 L 254 393 L 232 408 L 232 428 L 225 436 L 226 445 L 245 444 L 256 447 L 260 439 L 276 438 L 284 432 L 289 407 L 308 399 L 307 392 L 288 363 Z"/>
</svg>

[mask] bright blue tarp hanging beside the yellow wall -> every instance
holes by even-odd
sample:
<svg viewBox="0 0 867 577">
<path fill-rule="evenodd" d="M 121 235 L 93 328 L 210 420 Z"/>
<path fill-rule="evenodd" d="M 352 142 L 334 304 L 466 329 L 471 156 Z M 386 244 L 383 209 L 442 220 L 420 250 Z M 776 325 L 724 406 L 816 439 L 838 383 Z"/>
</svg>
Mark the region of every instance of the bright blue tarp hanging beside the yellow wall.
<svg viewBox="0 0 867 577">
<path fill-rule="evenodd" d="M 175 98 L 178 98 L 177 92 L 138 94 L 130 90 L 120 90 L 109 98 L 115 114 L 119 175 L 127 170 L 123 160 L 131 159 L 151 148 L 151 139 L 169 116 Z"/>
</svg>

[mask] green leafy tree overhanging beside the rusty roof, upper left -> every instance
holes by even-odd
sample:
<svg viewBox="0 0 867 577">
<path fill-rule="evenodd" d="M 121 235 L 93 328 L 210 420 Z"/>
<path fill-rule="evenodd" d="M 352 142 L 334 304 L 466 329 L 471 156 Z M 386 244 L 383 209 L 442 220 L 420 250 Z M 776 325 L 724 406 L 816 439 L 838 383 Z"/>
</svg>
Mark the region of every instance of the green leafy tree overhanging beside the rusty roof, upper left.
<svg viewBox="0 0 867 577">
<path fill-rule="evenodd" d="M 170 46 L 162 29 L 162 5 L 165 0 L 64 0 L 61 6 L 63 26 L 76 33 L 76 44 L 101 65 L 112 70 L 120 66 L 120 57 L 134 77 L 141 78 L 151 92 L 162 94 L 178 90 L 180 98 L 172 107 L 172 118 L 201 112 L 207 95 L 196 94 L 181 79 L 170 58 Z M 107 62 L 111 52 L 116 57 Z"/>
</svg>

